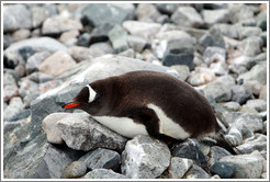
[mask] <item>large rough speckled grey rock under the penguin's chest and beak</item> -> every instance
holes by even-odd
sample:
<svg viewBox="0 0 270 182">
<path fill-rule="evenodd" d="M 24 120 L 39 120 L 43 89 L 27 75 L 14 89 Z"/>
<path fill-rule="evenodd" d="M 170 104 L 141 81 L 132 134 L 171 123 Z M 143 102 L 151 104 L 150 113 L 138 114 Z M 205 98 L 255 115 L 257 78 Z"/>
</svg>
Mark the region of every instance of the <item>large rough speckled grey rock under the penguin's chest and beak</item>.
<svg viewBox="0 0 270 182">
<path fill-rule="evenodd" d="M 60 118 L 57 128 L 68 147 L 88 151 L 94 148 L 123 150 L 126 138 L 102 126 L 88 113 L 74 113 Z"/>
</svg>

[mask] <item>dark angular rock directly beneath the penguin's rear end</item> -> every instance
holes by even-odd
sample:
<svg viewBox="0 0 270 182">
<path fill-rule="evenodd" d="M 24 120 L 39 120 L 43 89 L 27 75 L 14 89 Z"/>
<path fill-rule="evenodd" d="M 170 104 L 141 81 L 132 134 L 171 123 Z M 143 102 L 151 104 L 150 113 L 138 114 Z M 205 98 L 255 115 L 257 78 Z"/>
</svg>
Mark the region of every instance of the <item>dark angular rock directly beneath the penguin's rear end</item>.
<svg viewBox="0 0 270 182">
<path fill-rule="evenodd" d="M 206 158 L 199 146 L 200 145 L 195 139 L 188 139 L 180 145 L 173 146 L 171 155 L 173 157 L 192 159 L 200 167 L 206 168 Z"/>
</svg>

